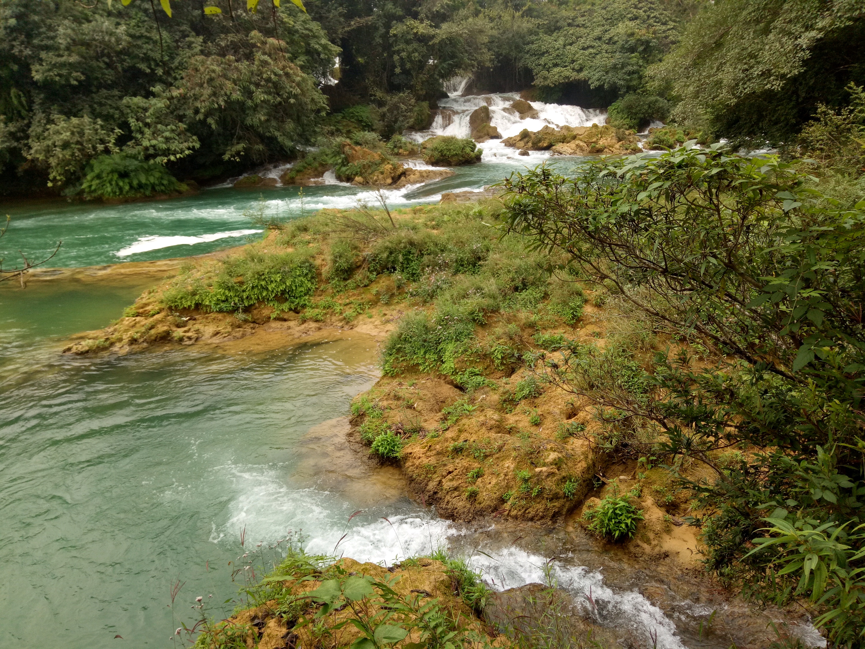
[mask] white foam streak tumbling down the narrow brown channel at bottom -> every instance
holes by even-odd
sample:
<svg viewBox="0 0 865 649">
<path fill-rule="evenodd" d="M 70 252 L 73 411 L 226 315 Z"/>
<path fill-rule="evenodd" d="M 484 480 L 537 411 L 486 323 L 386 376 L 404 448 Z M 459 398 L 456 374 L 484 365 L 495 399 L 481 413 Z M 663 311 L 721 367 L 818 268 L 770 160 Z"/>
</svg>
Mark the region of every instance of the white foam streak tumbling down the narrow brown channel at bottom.
<svg viewBox="0 0 865 649">
<path fill-rule="evenodd" d="M 545 583 L 542 566 L 546 562 L 542 556 L 531 555 L 514 547 L 498 553 L 495 559 L 477 555 L 470 560 L 471 567 L 483 573 L 484 582 L 497 590 L 525 586 L 528 583 Z M 598 571 L 590 570 L 586 566 L 567 566 L 554 562 L 552 576 L 561 588 L 573 594 L 581 614 L 586 617 L 594 618 L 610 627 L 630 628 L 650 644 L 650 633 L 657 633 L 659 649 L 686 649 L 676 635 L 676 625 L 660 608 L 637 591 L 609 588 Z M 588 601 L 590 588 L 594 607 Z M 701 613 L 708 614 L 711 611 Z"/>
</svg>

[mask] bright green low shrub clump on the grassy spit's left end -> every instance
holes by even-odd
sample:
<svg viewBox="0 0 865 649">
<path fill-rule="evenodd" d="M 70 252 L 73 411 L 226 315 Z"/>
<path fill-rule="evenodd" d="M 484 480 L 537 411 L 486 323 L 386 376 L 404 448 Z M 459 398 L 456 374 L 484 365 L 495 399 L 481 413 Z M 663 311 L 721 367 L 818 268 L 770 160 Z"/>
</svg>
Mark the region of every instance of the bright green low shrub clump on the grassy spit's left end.
<svg viewBox="0 0 865 649">
<path fill-rule="evenodd" d="M 304 252 L 262 254 L 250 250 L 242 257 L 222 260 L 214 271 L 181 273 L 163 294 L 163 305 L 241 312 L 264 303 L 272 306 L 276 315 L 309 305 L 317 286 L 315 264 Z"/>
</svg>

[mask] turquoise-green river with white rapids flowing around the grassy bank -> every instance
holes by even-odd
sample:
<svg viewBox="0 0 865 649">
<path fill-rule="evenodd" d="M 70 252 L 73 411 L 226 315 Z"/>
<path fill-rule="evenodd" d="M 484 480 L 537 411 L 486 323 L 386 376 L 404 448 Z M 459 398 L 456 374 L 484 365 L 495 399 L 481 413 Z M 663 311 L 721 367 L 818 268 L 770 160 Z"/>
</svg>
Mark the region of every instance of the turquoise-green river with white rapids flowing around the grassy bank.
<svg viewBox="0 0 865 649">
<path fill-rule="evenodd" d="M 506 100 L 499 95 L 491 107 L 494 125 L 510 135 L 521 125 L 500 110 Z M 465 116 L 483 100 L 450 101 L 456 119 L 434 132 L 464 134 Z M 602 119 L 573 108 L 543 106 L 541 118 Z M 388 202 L 437 202 L 442 192 L 478 190 L 546 157 L 527 161 L 493 142 L 481 164 L 389 191 Z M 573 168 L 580 159 L 556 164 Z M 257 236 L 243 213 L 259 195 L 285 219 L 371 199 L 368 190 L 331 183 L 303 196 L 292 187 L 223 187 L 121 205 L 14 203 L 0 255 L 10 259 L 20 247 L 38 258 L 58 240 L 56 267 L 202 254 Z M 343 331 L 270 349 L 61 356 L 64 337 L 119 317 L 152 281 L 61 275 L 25 290 L 0 286 L 0 647 L 123 646 L 116 636 L 131 646 L 174 646 L 196 596 L 212 602 L 211 614 L 230 614 L 237 584 L 229 562 L 248 549 L 292 534 L 329 553 L 344 533 L 339 551 L 361 561 L 449 545 L 471 556 L 494 588 L 538 581 L 554 556 L 555 578 L 581 606 L 593 598 L 585 613 L 599 623 L 641 642 L 657 637 L 664 649 L 729 646 L 726 636 L 696 635 L 717 606 L 696 587 L 676 588 L 669 575 L 636 569 L 579 534 L 537 529 L 526 539 L 504 524 L 442 520 L 406 498 L 394 469 L 359 461 L 344 434 L 352 396 L 379 376 L 371 337 Z M 363 513 L 349 522 L 356 510 Z M 181 585 L 172 606 L 171 589 Z"/>
</svg>

